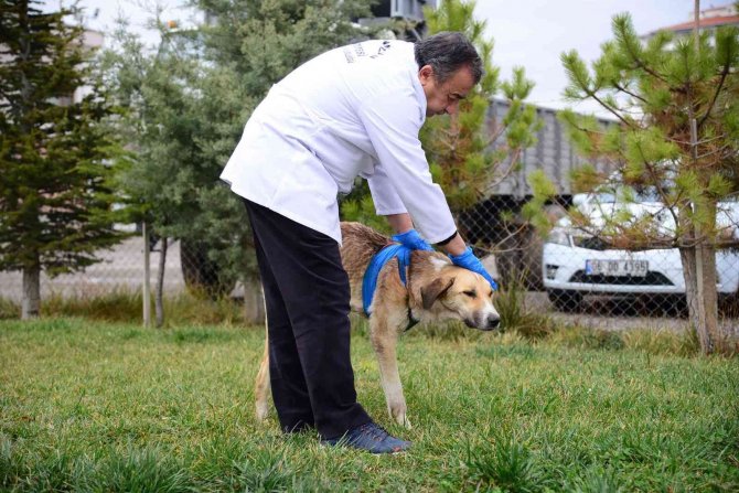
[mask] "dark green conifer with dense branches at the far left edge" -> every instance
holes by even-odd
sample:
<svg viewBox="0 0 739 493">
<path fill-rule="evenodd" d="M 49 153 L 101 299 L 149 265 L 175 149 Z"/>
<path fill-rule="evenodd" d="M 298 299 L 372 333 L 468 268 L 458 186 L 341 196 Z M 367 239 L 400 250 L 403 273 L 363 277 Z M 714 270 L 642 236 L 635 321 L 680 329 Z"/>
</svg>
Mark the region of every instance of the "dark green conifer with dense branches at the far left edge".
<svg viewBox="0 0 739 493">
<path fill-rule="evenodd" d="M 107 165 L 113 107 L 89 68 L 72 10 L 0 2 L 0 269 L 23 272 L 22 317 L 40 309 L 40 274 L 84 269 L 121 239 Z M 75 97 L 75 93 L 86 94 Z"/>
</svg>

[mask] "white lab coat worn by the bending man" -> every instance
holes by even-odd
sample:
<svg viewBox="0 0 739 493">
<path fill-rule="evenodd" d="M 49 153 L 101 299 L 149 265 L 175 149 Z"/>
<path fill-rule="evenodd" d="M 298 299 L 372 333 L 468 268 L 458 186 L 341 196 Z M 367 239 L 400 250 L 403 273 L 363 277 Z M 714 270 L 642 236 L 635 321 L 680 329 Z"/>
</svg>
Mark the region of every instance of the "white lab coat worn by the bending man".
<svg viewBox="0 0 739 493">
<path fill-rule="evenodd" d="M 363 176 L 377 214 L 408 212 L 438 243 L 456 226 L 418 140 L 425 119 L 413 44 L 339 47 L 272 86 L 221 178 L 238 195 L 341 244 L 336 194 Z"/>
</svg>

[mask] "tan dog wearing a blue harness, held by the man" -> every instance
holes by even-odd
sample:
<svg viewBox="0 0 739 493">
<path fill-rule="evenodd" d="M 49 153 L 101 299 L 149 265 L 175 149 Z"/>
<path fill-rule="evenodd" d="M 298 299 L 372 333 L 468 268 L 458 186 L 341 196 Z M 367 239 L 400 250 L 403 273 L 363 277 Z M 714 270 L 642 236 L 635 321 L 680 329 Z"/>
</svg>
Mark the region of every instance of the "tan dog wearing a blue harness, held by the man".
<svg viewBox="0 0 739 493">
<path fill-rule="evenodd" d="M 341 259 L 349 274 L 352 309 L 362 308 L 362 280 L 372 257 L 389 238 L 360 223 L 342 223 Z M 410 428 L 406 416 L 406 399 L 398 373 L 395 346 L 398 334 L 409 324 L 409 317 L 419 322 L 461 320 L 468 326 L 493 330 L 500 315 L 493 307 L 493 290 L 482 276 L 453 266 L 449 258 L 436 251 L 416 250 L 411 254 L 404 287 L 396 259 L 379 272 L 370 307 L 370 339 L 379 363 L 379 376 L 390 417 Z M 257 375 L 257 418 L 267 417 L 269 398 L 269 353 L 265 353 Z"/>
</svg>

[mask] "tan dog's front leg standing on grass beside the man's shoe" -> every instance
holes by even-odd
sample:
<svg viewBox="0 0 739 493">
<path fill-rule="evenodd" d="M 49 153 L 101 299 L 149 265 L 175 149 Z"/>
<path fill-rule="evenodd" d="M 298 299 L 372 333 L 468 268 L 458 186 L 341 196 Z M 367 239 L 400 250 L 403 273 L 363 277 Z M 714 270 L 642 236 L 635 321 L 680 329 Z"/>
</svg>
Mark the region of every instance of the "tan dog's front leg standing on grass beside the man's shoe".
<svg viewBox="0 0 739 493">
<path fill-rule="evenodd" d="M 397 326 L 388 323 L 388 319 L 382 317 L 381 313 L 374 313 L 370 319 L 370 334 L 379 364 L 379 379 L 385 392 L 387 410 L 398 425 L 410 428 L 410 421 L 406 416 L 406 398 L 403 395 L 403 384 L 398 373 Z"/>
</svg>

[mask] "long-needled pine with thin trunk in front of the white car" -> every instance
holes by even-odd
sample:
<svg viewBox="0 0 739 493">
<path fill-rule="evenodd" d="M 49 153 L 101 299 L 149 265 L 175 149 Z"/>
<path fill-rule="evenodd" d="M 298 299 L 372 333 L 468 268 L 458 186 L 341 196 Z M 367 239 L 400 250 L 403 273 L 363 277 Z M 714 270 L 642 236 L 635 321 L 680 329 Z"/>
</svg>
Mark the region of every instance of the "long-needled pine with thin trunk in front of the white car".
<svg viewBox="0 0 739 493">
<path fill-rule="evenodd" d="M 620 248 L 679 248 L 689 317 L 703 351 L 721 350 L 727 334 L 717 322 L 715 255 L 736 244 L 731 227 L 737 225 L 717 222 L 717 210 L 739 190 L 739 31 L 660 32 L 642 44 L 631 17 L 621 14 L 613 18 L 613 34 L 591 69 L 577 52 L 563 54 L 569 77 L 565 95 L 598 101 L 620 125 L 602 131 L 593 118 L 571 111 L 563 119 L 583 154 L 621 163 L 615 180 L 654 190 L 668 221 L 658 226 L 653 216 L 626 206 L 598 234 Z M 613 180 L 592 168 L 575 175 L 585 190 Z M 621 199 L 634 200 L 628 192 Z M 578 227 L 596 227 L 582 214 L 572 218 Z M 674 226 L 665 227 L 670 223 Z"/>
</svg>

